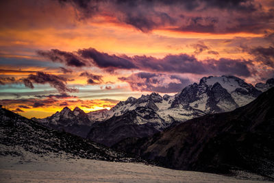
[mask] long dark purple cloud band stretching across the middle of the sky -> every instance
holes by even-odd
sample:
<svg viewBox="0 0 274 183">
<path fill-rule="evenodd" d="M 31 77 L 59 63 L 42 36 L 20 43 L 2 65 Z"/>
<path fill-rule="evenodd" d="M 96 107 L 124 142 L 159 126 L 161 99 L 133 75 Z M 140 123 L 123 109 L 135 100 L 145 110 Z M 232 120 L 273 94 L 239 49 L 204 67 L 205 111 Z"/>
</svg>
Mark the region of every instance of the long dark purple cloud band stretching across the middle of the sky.
<svg viewBox="0 0 274 183">
<path fill-rule="evenodd" d="M 203 44 L 197 44 L 197 53 L 207 50 L 208 47 Z M 86 62 L 90 62 L 105 71 L 114 71 L 115 69 L 138 69 L 149 72 L 164 73 L 194 73 L 194 74 L 222 74 L 249 76 L 247 60 L 233 60 L 229 58 L 220 58 L 219 60 L 197 60 L 195 56 L 185 53 L 179 55 L 168 55 L 164 58 L 155 58 L 152 56 L 116 56 L 108 53 L 101 53 L 95 49 L 81 49 L 77 52 L 77 57 Z M 82 76 L 88 77 L 89 84 L 101 82 L 101 76 L 88 75 L 82 73 Z"/>
</svg>

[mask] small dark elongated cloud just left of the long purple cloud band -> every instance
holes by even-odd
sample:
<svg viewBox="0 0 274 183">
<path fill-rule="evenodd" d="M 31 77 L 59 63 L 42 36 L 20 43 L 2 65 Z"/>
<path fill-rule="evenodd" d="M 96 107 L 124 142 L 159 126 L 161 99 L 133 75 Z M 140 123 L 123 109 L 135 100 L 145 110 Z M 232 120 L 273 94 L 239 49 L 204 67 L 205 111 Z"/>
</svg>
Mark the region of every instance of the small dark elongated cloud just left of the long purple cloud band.
<svg viewBox="0 0 274 183">
<path fill-rule="evenodd" d="M 66 64 L 67 66 L 88 66 L 87 62 L 81 60 L 77 55 L 67 51 L 60 51 L 58 49 L 51 49 L 51 51 L 37 51 L 39 56 L 48 58 L 53 62 L 61 62 Z"/>
</svg>

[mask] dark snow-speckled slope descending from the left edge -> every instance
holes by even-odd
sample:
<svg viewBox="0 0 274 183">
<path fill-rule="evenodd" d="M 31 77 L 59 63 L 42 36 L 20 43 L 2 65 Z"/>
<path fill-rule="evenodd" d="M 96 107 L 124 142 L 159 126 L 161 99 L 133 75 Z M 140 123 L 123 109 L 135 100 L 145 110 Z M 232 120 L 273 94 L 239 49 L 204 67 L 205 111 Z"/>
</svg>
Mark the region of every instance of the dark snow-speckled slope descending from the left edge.
<svg viewBox="0 0 274 183">
<path fill-rule="evenodd" d="M 35 121 L 14 112 L 0 109 L 0 156 L 24 156 L 25 151 L 40 156 L 49 153 L 67 154 L 71 157 L 136 161 L 121 152 L 87 141 L 78 136 L 58 130 L 49 130 Z"/>
</svg>

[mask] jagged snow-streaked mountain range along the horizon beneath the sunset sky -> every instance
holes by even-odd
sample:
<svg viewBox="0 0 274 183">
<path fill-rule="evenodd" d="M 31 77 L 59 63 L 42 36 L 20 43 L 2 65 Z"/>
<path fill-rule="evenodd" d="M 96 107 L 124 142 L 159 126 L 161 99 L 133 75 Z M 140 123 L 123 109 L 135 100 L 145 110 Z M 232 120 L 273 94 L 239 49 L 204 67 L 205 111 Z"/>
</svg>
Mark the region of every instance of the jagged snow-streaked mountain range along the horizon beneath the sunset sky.
<svg viewBox="0 0 274 183">
<path fill-rule="evenodd" d="M 85 113 L 64 108 L 51 117 L 33 119 L 56 130 L 64 130 L 97 143 L 112 146 L 128 137 L 145 137 L 188 119 L 227 112 L 253 101 L 274 86 L 274 79 L 253 86 L 234 76 L 203 77 L 199 84 L 183 88 L 177 95 L 158 93 L 129 97 L 110 110 Z"/>
</svg>

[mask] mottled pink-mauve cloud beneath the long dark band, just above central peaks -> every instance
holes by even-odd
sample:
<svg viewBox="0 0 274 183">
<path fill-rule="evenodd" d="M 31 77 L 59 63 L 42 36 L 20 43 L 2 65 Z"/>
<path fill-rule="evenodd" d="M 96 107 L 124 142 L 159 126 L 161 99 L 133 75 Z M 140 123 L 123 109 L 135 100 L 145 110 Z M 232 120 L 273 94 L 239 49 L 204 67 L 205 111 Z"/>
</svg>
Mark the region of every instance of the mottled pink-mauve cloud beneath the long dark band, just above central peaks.
<svg viewBox="0 0 274 183">
<path fill-rule="evenodd" d="M 159 73 L 134 73 L 129 77 L 119 77 L 127 82 L 132 90 L 157 93 L 177 93 L 190 84 L 190 80 L 179 75 L 166 75 Z"/>
</svg>

